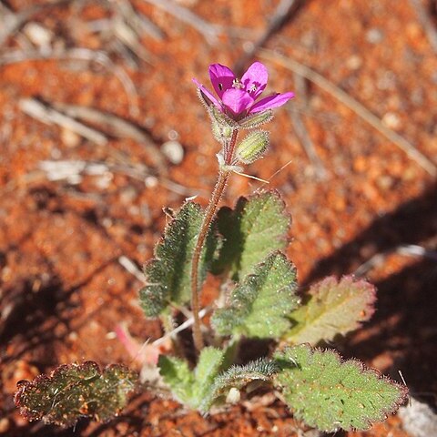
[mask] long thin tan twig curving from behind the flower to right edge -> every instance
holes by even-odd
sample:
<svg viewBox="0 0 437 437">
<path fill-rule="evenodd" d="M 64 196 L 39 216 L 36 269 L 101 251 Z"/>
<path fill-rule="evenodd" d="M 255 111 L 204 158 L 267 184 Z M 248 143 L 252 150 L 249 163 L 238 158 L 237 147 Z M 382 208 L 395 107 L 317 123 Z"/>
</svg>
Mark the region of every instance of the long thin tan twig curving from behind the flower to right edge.
<svg viewBox="0 0 437 437">
<path fill-rule="evenodd" d="M 396 132 L 384 126 L 380 118 L 371 113 L 369 109 L 361 105 L 360 102 L 351 97 L 348 93 L 340 89 L 339 86 L 334 85 L 324 76 L 312 70 L 309 66 L 304 66 L 290 57 L 281 56 L 271 50 L 261 49 L 260 57 L 271 62 L 284 66 L 285 68 L 294 71 L 300 76 L 306 77 L 308 80 L 320 86 L 323 90 L 329 93 L 332 97 L 337 98 L 343 105 L 346 105 L 361 117 L 364 121 L 374 127 L 384 137 L 388 138 L 394 145 L 401 148 L 410 158 L 416 161 L 424 170 L 426 170 L 432 178 L 437 178 L 437 165 L 429 158 L 425 157 L 416 147 L 414 147 L 404 137 L 401 137 Z"/>
</svg>

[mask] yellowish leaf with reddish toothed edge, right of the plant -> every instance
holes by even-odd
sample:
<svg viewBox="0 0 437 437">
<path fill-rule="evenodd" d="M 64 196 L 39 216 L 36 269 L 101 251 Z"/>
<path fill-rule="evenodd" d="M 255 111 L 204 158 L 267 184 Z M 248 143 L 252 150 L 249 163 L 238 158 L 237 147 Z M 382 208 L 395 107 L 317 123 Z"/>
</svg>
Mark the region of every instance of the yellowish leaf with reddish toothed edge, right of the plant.
<svg viewBox="0 0 437 437">
<path fill-rule="evenodd" d="M 294 326 L 284 336 L 285 340 L 315 345 L 360 328 L 374 312 L 376 290 L 363 279 L 346 276 L 338 281 L 330 277 L 314 284 L 309 298 L 290 315 Z"/>
</svg>

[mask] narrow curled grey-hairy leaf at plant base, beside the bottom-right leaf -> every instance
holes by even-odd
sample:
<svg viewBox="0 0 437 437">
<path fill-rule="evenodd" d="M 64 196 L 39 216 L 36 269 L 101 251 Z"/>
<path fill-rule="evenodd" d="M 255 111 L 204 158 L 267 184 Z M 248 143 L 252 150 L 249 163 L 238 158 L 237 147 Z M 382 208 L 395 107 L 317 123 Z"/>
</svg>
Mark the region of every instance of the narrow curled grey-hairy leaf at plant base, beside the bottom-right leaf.
<svg viewBox="0 0 437 437">
<path fill-rule="evenodd" d="M 244 366 L 232 366 L 219 374 L 200 404 L 200 412 L 208 412 L 211 406 L 226 399 L 230 390 L 241 390 L 253 381 L 270 381 L 278 367 L 274 361 L 259 359 Z"/>
</svg>

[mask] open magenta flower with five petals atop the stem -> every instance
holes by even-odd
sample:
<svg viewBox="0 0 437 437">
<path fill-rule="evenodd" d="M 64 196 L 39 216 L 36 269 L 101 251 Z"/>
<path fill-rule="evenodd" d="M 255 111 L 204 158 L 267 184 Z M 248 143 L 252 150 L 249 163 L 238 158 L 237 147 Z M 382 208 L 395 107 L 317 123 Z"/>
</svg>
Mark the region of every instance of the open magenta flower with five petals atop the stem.
<svg viewBox="0 0 437 437">
<path fill-rule="evenodd" d="M 273 107 L 281 107 L 294 97 L 293 93 L 273 94 L 257 99 L 267 86 L 269 74 L 267 68 L 260 62 L 254 62 L 239 79 L 228 66 L 212 64 L 209 66 L 209 77 L 219 98 L 201 85 L 197 79 L 193 82 L 198 86 L 202 97 L 208 106 L 214 105 L 219 111 L 229 117 L 240 120 L 250 114 L 266 111 Z"/>
</svg>

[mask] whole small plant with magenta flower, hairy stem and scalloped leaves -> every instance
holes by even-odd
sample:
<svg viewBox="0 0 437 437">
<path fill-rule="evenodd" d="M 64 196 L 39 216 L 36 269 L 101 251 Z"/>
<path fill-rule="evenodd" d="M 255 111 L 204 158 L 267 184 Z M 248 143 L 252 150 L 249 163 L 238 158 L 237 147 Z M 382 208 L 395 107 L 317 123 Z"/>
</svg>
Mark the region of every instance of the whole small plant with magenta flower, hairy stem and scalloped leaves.
<svg viewBox="0 0 437 437">
<path fill-rule="evenodd" d="M 231 174 L 268 148 L 269 133 L 259 127 L 293 94 L 261 98 L 268 73 L 259 62 L 241 78 L 219 64 L 209 67 L 209 76 L 216 96 L 193 80 L 220 145 L 217 184 L 207 208 L 187 200 L 173 214 L 144 268 L 147 284 L 139 293 L 146 316 L 162 320 L 165 337 L 175 346 L 180 330 L 175 320 L 188 318 L 182 324 L 192 325 L 196 359 L 177 353 L 184 348 L 170 347 L 158 361 L 146 358 L 146 373 L 154 376 L 141 382 L 119 365 L 104 371 L 90 361 L 61 366 L 50 376 L 19 383 L 15 403 L 29 419 L 64 425 L 80 416 L 106 420 L 126 405 L 129 392 L 155 385 L 207 414 L 263 385 L 281 393 L 297 419 L 334 432 L 366 430 L 405 400 L 403 385 L 320 348 L 370 319 L 374 287 L 351 276 L 330 277 L 298 292 L 296 269 L 285 255 L 290 216 L 279 192 L 259 191 L 239 198 L 234 208 L 219 208 Z M 241 131 L 249 132 L 239 140 Z M 222 285 L 201 310 L 208 275 L 218 276 Z M 200 315 L 208 310 L 211 317 L 202 323 Z M 257 352 L 259 339 L 276 345 L 267 356 Z M 258 353 L 254 361 L 243 361 L 243 340 L 252 356 Z"/>
</svg>

